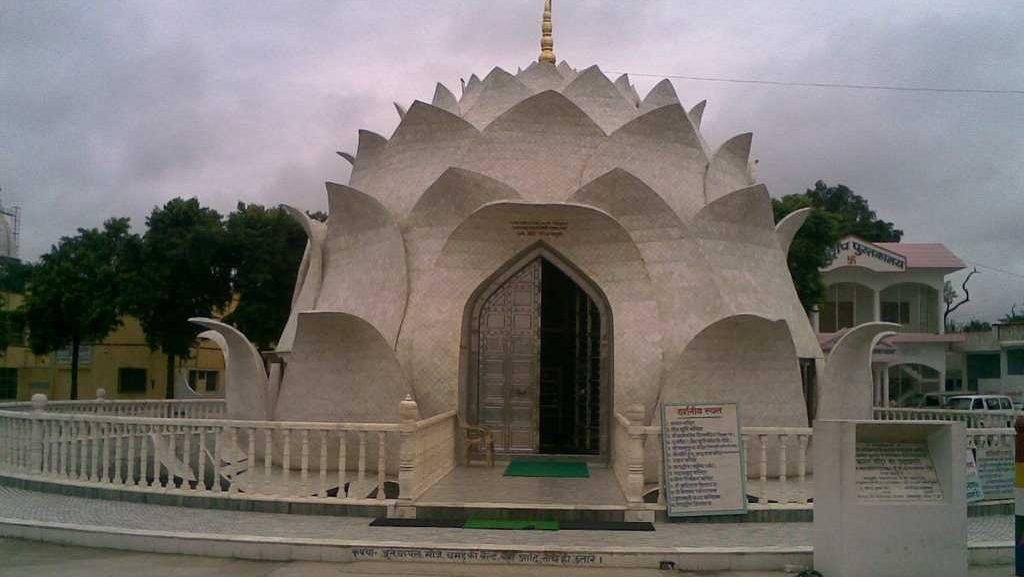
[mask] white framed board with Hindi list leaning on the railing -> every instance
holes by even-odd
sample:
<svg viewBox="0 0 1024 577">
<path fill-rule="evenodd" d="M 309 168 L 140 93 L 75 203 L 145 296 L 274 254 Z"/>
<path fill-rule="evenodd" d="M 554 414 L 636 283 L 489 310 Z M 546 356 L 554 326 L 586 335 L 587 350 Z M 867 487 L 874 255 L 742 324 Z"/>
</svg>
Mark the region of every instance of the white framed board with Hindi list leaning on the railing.
<svg viewBox="0 0 1024 577">
<path fill-rule="evenodd" d="M 669 517 L 746 512 L 746 472 L 735 403 L 663 405 Z"/>
</svg>

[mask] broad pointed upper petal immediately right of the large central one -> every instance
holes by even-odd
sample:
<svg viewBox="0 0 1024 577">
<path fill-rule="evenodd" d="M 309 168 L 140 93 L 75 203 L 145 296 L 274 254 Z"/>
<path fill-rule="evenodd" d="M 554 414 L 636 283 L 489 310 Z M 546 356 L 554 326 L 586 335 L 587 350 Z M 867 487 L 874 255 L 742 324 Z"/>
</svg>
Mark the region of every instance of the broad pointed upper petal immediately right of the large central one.
<svg viewBox="0 0 1024 577">
<path fill-rule="evenodd" d="M 677 102 L 641 114 L 611 133 L 590 159 L 583 181 L 623 168 L 689 218 L 703 207 L 700 190 L 707 165 L 696 128 Z"/>
</svg>

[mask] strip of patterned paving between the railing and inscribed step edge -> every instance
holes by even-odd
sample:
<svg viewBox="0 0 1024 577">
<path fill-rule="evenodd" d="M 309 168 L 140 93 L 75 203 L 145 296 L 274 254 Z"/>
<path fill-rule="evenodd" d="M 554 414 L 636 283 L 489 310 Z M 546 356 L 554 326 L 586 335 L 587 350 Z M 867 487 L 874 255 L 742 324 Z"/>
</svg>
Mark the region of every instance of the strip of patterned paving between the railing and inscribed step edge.
<svg viewBox="0 0 1024 577">
<path fill-rule="evenodd" d="M 800 547 L 811 545 L 810 523 L 658 524 L 654 532 L 469 531 L 370 527 L 370 519 L 181 508 L 39 493 L 0 486 L 0 518 L 120 530 L 230 536 L 337 539 L 501 547 Z M 972 518 L 969 542 L 1010 543 L 1011 516 Z"/>
</svg>

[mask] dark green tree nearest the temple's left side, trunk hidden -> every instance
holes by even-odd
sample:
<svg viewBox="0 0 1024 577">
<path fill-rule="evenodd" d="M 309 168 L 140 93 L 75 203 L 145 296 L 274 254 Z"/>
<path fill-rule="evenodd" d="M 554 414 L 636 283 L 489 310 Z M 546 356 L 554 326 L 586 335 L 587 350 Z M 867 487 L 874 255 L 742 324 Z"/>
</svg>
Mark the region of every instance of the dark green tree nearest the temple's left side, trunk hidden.
<svg viewBox="0 0 1024 577">
<path fill-rule="evenodd" d="M 288 322 L 306 233 L 281 208 L 244 203 L 225 229 L 238 304 L 224 320 L 256 346 L 270 348 Z"/>
</svg>

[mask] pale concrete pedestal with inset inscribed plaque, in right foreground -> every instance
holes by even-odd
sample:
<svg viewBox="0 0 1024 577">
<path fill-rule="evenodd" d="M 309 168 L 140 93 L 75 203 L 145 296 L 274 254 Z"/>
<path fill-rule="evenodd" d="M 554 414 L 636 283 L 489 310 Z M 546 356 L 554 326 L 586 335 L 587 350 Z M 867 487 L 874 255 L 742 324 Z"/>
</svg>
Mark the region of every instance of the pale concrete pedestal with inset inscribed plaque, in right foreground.
<svg viewBox="0 0 1024 577">
<path fill-rule="evenodd" d="M 959 422 L 815 422 L 814 568 L 966 577 L 965 447 Z"/>
</svg>

